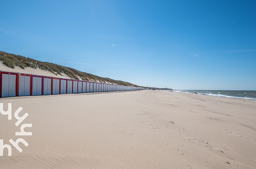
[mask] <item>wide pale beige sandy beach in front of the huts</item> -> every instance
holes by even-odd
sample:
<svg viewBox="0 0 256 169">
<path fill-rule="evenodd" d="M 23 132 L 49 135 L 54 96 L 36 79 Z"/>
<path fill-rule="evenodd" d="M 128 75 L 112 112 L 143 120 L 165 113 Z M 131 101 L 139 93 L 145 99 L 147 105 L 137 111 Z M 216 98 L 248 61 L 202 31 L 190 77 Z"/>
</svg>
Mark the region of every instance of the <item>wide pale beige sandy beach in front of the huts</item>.
<svg viewBox="0 0 256 169">
<path fill-rule="evenodd" d="M 29 146 L 4 150 L 0 168 L 256 168 L 254 100 L 146 90 L 0 100 L 33 124 Z M 0 114 L 4 144 L 20 137 L 15 122 Z"/>
</svg>

